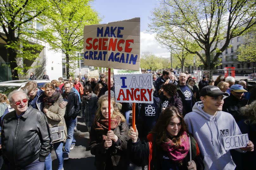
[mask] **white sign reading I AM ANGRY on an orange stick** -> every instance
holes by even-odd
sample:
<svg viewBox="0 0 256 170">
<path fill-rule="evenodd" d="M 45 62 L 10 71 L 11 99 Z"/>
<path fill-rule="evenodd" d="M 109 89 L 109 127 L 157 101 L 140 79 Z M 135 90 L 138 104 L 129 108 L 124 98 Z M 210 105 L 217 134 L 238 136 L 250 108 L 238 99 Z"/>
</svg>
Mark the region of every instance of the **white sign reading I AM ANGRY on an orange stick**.
<svg viewBox="0 0 256 170">
<path fill-rule="evenodd" d="M 152 74 L 115 75 L 115 96 L 121 103 L 153 103 Z"/>
</svg>

